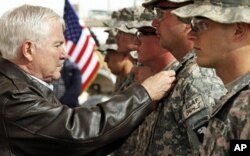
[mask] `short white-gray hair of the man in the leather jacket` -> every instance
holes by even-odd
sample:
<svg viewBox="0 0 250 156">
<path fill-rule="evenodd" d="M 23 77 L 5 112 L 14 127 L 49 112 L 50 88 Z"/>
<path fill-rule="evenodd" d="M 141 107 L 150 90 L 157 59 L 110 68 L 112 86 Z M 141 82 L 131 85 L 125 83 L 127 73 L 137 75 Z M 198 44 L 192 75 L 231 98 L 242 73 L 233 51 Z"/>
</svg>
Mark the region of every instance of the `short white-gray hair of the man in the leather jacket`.
<svg viewBox="0 0 250 156">
<path fill-rule="evenodd" d="M 57 20 L 65 23 L 52 9 L 22 5 L 13 10 L 7 11 L 0 18 L 0 51 L 5 59 L 15 59 L 19 55 L 22 43 L 31 40 L 39 48 L 48 37 L 50 21 Z"/>
</svg>

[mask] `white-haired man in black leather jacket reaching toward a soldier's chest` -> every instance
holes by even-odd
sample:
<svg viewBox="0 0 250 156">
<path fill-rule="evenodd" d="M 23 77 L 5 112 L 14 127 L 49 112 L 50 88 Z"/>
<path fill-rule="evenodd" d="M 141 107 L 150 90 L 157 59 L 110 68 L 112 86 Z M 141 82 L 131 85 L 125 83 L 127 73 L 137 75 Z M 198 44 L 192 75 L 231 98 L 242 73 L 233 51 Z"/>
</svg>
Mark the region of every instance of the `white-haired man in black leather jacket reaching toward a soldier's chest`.
<svg viewBox="0 0 250 156">
<path fill-rule="evenodd" d="M 62 17 L 45 7 L 23 5 L 0 18 L 1 155 L 90 154 L 128 135 L 175 79 L 161 72 L 91 109 L 68 108 L 51 88 L 66 58 L 63 31 Z"/>
</svg>

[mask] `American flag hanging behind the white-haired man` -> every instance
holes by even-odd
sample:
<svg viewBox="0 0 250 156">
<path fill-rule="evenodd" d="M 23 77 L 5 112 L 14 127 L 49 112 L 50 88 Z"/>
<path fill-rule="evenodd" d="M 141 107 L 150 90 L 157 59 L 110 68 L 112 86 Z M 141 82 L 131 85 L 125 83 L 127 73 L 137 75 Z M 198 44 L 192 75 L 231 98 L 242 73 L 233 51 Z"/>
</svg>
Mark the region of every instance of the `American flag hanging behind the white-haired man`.
<svg viewBox="0 0 250 156">
<path fill-rule="evenodd" d="M 75 62 L 82 75 L 82 90 L 86 90 L 95 78 L 100 63 L 94 52 L 96 43 L 91 36 L 89 29 L 79 23 L 79 18 L 69 3 L 65 0 L 64 16 L 66 31 L 66 51 L 70 60 Z"/>
</svg>

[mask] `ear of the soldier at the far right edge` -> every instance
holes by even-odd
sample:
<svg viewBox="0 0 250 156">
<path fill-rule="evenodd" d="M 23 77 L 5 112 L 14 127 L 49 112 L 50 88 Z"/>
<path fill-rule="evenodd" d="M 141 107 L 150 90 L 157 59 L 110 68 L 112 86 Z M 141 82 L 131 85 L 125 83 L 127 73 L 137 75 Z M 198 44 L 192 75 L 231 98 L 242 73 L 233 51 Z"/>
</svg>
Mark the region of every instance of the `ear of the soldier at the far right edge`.
<svg viewBox="0 0 250 156">
<path fill-rule="evenodd" d="M 240 41 L 242 40 L 249 31 L 249 26 L 246 23 L 236 23 L 235 31 L 234 31 L 234 40 Z"/>
</svg>

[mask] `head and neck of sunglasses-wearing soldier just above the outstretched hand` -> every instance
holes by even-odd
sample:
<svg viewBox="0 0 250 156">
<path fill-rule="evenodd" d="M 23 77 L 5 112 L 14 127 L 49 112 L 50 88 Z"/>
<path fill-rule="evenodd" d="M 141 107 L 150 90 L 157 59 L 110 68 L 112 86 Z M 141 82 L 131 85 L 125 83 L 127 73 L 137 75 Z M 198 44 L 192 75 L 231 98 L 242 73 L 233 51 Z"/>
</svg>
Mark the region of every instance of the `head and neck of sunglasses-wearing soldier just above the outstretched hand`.
<svg viewBox="0 0 250 156">
<path fill-rule="evenodd" d="M 148 66 L 152 74 L 155 74 L 167 68 L 176 59 L 171 52 L 160 46 L 159 38 L 156 36 L 156 29 L 151 24 L 153 18 L 153 11 L 145 9 L 139 19 L 128 23 L 127 26 L 130 29 L 137 29 L 138 62 L 143 66 Z"/>
</svg>

